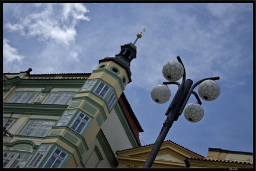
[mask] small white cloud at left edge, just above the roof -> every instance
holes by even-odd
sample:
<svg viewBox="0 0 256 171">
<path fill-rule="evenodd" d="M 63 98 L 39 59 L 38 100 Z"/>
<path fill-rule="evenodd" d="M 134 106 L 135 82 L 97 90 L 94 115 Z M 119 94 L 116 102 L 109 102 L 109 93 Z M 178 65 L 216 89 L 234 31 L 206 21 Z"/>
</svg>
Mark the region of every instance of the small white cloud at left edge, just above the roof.
<svg viewBox="0 0 256 171">
<path fill-rule="evenodd" d="M 17 61 L 22 63 L 24 56 L 19 54 L 17 49 L 11 47 L 7 39 L 4 39 L 3 50 L 4 62 L 11 63 Z"/>
</svg>

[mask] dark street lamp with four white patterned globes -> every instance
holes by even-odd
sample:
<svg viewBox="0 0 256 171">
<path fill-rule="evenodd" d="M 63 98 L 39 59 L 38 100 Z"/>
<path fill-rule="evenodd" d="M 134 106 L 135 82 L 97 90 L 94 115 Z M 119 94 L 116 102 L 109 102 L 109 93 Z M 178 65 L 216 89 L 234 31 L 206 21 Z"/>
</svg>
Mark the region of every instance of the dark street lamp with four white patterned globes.
<svg viewBox="0 0 256 171">
<path fill-rule="evenodd" d="M 169 90 L 167 85 L 175 84 L 178 85 L 178 90 L 175 93 L 174 98 L 169 105 L 167 112 L 167 119 L 164 122 L 164 125 L 161 129 L 161 132 L 156 138 L 155 144 L 152 147 L 151 152 L 149 153 L 146 162 L 143 167 L 151 167 L 153 161 L 155 160 L 158 151 L 160 150 L 162 143 L 167 136 L 169 129 L 171 128 L 174 121 L 178 120 L 181 113 L 184 109 L 184 117 L 190 122 L 198 122 L 203 118 L 204 110 L 201 107 L 201 98 L 206 101 L 213 101 L 220 95 L 220 86 L 215 80 L 220 79 L 219 76 L 212 78 L 201 79 L 198 82 L 194 83 L 191 79 L 185 79 L 185 67 L 183 62 L 181 61 L 180 56 L 177 56 L 178 61 L 171 60 L 164 64 L 162 73 L 165 79 L 169 80 L 169 82 L 163 82 L 161 85 L 156 85 L 152 88 L 151 97 L 153 101 L 159 104 L 163 104 L 169 100 L 171 97 L 171 91 Z M 177 82 L 177 80 L 183 78 L 181 84 Z M 200 85 L 199 85 L 200 84 Z M 199 85 L 199 95 L 193 91 L 196 86 Z M 190 98 L 191 93 L 196 97 L 197 102 L 187 104 L 188 98 Z"/>
</svg>

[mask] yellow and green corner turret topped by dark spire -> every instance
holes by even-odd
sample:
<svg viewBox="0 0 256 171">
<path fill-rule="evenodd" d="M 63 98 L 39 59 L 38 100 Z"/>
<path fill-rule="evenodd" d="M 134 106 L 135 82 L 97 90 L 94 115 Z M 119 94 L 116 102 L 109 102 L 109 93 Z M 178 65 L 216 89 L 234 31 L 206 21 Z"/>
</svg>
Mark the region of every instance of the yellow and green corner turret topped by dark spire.
<svg viewBox="0 0 256 171">
<path fill-rule="evenodd" d="M 105 57 L 99 61 L 96 69 L 44 139 L 42 144 L 54 144 L 50 147 L 52 153 L 61 151 L 63 156 L 72 154 L 72 157 L 66 160 L 65 167 L 82 165 L 75 161 L 81 161 L 95 137 L 100 136 L 101 126 L 109 117 L 127 84 L 132 82 L 130 63 L 136 58 L 135 43 L 142 37 L 142 31 L 137 34 L 134 43 L 121 46 L 119 54 L 115 57 Z M 66 143 L 70 141 L 72 143 Z M 96 154 L 98 155 L 97 152 Z M 100 154 L 100 159 L 99 156 Z M 52 167 L 50 159 L 40 167 Z"/>
</svg>

